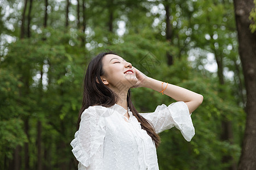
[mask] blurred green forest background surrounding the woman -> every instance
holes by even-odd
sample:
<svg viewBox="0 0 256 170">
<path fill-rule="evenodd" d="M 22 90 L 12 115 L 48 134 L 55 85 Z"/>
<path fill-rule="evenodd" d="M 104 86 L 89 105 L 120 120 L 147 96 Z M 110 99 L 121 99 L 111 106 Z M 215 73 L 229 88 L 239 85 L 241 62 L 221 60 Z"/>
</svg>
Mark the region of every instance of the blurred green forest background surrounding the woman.
<svg viewBox="0 0 256 170">
<path fill-rule="evenodd" d="M 255 102 L 249 90 L 256 80 L 246 79 L 242 59 L 249 53 L 255 71 L 253 1 L 0 0 L 0 12 L 0 169 L 77 169 L 70 142 L 82 81 L 105 49 L 147 76 L 204 96 L 192 113 L 191 142 L 175 128 L 160 134 L 160 169 L 256 166 L 255 143 L 242 145 L 256 139 L 246 124 L 248 113 L 256 123 L 255 107 L 246 107 Z M 249 45 L 238 48 L 243 38 Z M 139 112 L 174 102 L 143 87 L 131 92 Z"/>
</svg>

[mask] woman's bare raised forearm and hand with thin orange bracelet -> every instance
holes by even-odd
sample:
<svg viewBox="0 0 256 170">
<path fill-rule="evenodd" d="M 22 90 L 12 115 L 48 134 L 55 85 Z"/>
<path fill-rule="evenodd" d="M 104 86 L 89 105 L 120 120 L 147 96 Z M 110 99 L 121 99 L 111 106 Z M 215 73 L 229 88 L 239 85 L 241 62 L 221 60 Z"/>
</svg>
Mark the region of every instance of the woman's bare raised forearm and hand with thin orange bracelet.
<svg viewBox="0 0 256 170">
<path fill-rule="evenodd" d="M 162 82 L 144 75 L 138 69 L 135 70 L 138 78 L 138 83 L 135 87 L 147 87 L 158 92 L 162 91 Z M 176 101 L 184 101 L 184 103 L 188 106 L 189 113 L 195 111 L 195 109 L 199 107 L 204 99 L 204 97 L 200 94 L 170 83 L 168 83 L 168 85 L 167 83 L 163 83 L 163 89 L 164 88 L 166 88 L 166 90 L 164 90 L 163 94 L 172 97 Z"/>
</svg>

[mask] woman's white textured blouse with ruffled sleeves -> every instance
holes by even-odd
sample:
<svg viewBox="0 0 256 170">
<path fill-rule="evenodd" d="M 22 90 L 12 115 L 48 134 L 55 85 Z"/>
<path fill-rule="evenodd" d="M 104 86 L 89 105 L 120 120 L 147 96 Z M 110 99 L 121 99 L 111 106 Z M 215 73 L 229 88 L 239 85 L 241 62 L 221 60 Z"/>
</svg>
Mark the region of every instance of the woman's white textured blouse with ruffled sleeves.
<svg viewBox="0 0 256 170">
<path fill-rule="evenodd" d="M 129 119 L 124 116 L 127 110 Z M 154 142 L 129 107 L 127 110 L 118 104 L 85 109 L 80 128 L 71 142 L 79 170 L 159 169 Z M 139 114 L 152 123 L 156 133 L 175 126 L 188 142 L 195 135 L 188 107 L 183 101 L 168 107 L 162 104 L 155 112 Z"/>
</svg>

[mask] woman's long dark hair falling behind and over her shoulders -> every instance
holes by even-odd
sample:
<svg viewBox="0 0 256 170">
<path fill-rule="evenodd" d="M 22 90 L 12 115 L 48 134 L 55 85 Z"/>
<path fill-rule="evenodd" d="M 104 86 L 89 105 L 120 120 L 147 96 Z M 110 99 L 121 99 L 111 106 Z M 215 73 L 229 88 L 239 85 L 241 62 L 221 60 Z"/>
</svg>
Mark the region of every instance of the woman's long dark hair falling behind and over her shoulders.
<svg viewBox="0 0 256 170">
<path fill-rule="evenodd" d="M 100 79 L 101 75 L 104 75 L 102 59 L 107 54 L 115 54 L 113 52 L 103 52 L 98 54 L 96 57 L 90 61 L 84 79 L 84 94 L 82 99 L 82 107 L 79 112 L 79 118 L 77 121 L 77 130 L 79 129 L 79 124 L 81 121 L 82 112 L 92 105 L 102 105 L 103 107 L 111 107 L 118 101 L 118 95 L 115 94 L 110 88 L 108 88 Z M 117 55 L 117 54 L 115 54 Z M 135 109 L 131 101 L 131 91 L 128 90 L 127 94 L 127 106 L 130 111 L 141 122 L 142 129 L 147 131 L 150 135 L 152 141 L 154 141 L 155 146 L 158 147 L 160 144 L 160 137 L 156 134 L 153 126 L 146 118 L 142 117 L 138 111 Z"/>
</svg>

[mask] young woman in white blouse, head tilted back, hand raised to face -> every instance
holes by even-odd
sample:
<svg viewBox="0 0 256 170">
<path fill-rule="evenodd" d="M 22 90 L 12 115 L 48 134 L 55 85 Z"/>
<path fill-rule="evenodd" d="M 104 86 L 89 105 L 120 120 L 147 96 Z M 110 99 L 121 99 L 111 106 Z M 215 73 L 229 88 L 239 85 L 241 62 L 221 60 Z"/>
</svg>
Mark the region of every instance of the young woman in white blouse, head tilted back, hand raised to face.
<svg viewBox="0 0 256 170">
<path fill-rule="evenodd" d="M 138 113 L 131 87 L 151 88 L 177 102 Z M 86 70 L 78 130 L 71 142 L 79 169 L 159 169 L 158 133 L 175 126 L 191 141 L 195 129 L 190 114 L 202 101 L 202 95 L 150 78 L 112 52 L 98 54 Z"/>
</svg>

